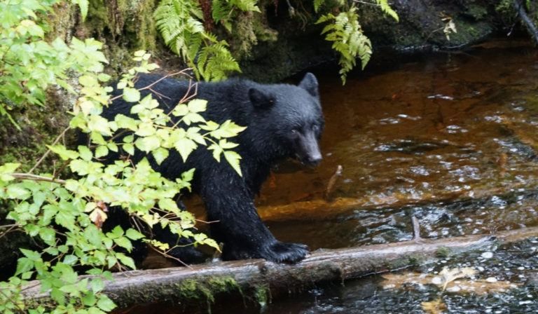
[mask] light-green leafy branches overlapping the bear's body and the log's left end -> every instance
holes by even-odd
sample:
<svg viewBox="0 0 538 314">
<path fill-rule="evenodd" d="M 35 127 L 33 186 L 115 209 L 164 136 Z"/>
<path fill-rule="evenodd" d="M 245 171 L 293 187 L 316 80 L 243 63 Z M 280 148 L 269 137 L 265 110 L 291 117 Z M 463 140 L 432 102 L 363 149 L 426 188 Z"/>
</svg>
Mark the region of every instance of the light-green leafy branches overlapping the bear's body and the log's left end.
<svg viewBox="0 0 538 314">
<path fill-rule="evenodd" d="M 240 173 L 240 156 L 230 151 L 237 144 L 228 139 L 244 128 L 231 121 L 222 125 L 205 121 L 200 115 L 206 109 L 205 100 L 179 103 L 165 112 L 158 108 L 158 102 L 151 95 L 140 99 L 133 79 L 138 73 L 157 66 L 148 62 L 149 54 L 143 51 L 135 53 L 135 60 L 139 65 L 130 69 L 118 83 L 118 89 L 123 90 L 118 97 L 135 103 L 131 114 L 136 118 L 118 115 L 114 121 L 107 121 L 99 116 L 103 106 L 111 100 L 111 88 L 102 87 L 109 77 L 97 71 L 78 78 L 81 97 L 74 107 L 71 128 L 87 132 L 90 142 L 88 146 L 76 149 L 68 149 L 62 144 L 48 146 L 71 172 L 78 175 L 77 179 L 60 180 L 50 174 L 17 173 L 20 165 L 15 163 L 0 166 L 0 199 L 11 200 L 14 205 L 7 218 L 46 246 L 42 252 L 21 250 L 24 257 L 18 260 L 15 276 L 10 282 L 2 283 L 9 291 L 9 297 L 0 294 L 0 303 L 6 304 L 6 310 L 8 306 L 25 306 L 18 291 L 31 278 L 40 280 L 43 291 L 50 292 L 57 303 L 50 313 L 78 313 L 81 308 L 104 313 L 114 308 L 108 297 L 100 293 L 102 278 L 110 278 L 106 269 L 135 268 L 134 261 L 123 250 L 130 252 L 131 241 L 145 237 L 142 230 L 130 228 L 124 231 L 120 226 L 103 233 L 100 228 L 107 219 L 109 206 L 129 212 L 132 219 L 138 221 L 135 226 L 160 224 L 172 233 L 191 238 L 196 244 L 219 250 L 207 235 L 189 230 L 195 227 L 194 217 L 180 210 L 175 200 L 182 189 L 191 188 L 194 170 L 170 181 L 155 172 L 146 158 L 134 164 L 130 155 L 136 147 L 162 163 L 170 149 L 176 149 L 186 160 L 198 146 L 211 143 L 208 149 L 213 151 L 216 160 L 223 155 Z M 186 125 L 186 128 L 179 125 Z M 130 135 L 121 137 L 126 132 Z M 125 151 L 126 156 L 113 164 L 102 163 L 102 158 L 110 151 Z M 146 242 L 165 252 L 174 248 L 156 240 Z M 87 273 L 96 276 L 79 280 L 75 271 L 77 266 L 89 268 Z M 38 307 L 34 310 L 42 313 L 41 310 L 46 309 Z"/>
</svg>

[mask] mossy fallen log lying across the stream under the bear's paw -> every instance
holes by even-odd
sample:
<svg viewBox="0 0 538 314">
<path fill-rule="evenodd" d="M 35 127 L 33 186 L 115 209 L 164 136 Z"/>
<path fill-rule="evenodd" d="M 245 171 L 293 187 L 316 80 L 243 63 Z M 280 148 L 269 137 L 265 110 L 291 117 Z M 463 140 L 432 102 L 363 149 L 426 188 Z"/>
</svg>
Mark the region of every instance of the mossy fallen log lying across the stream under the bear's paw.
<svg viewBox="0 0 538 314">
<path fill-rule="evenodd" d="M 417 240 L 399 243 L 317 250 L 294 265 L 251 259 L 115 273 L 114 280 L 106 282 L 104 292 L 123 308 L 168 300 L 201 299 L 209 303 L 215 294 L 224 292 L 254 296 L 256 301 L 263 303 L 269 293 L 298 291 L 316 282 L 343 282 L 425 264 L 440 254 L 446 257 L 447 254 L 488 250 L 494 244 L 518 242 L 538 236 L 538 227 L 437 240 L 422 239 L 417 235 Z M 35 301 L 48 299 L 48 294 L 40 292 L 39 282 L 31 282 L 23 293 L 27 299 Z"/>
</svg>

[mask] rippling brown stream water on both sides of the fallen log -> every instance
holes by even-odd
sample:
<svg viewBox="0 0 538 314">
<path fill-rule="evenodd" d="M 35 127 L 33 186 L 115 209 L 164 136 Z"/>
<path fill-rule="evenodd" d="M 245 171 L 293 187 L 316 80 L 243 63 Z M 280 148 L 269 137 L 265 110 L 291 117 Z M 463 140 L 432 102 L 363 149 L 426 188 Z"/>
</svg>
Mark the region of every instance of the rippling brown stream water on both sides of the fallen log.
<svg viewBox="0 0 538 314">
<path fill-rule="evenodd" d="M 356 73 L 346 86 L 332 72 L 318 76 L 326 116 L 323 163 L 315 170 L 281 165 L 256 200 L 277 238 L 312 249 L 408 240 L 412 215 L 425 238 L 538 224 L 537 50 L 501 42 L 415 56 Z M 343 175 L 327 192 L 338 165 Z M 443 265 L 475 263 L 524 282 L 517 269 L 538 266 L 534 243 L 504 248 L 495 261 L 467 256 Z M 275 299 L 263 311 L 422 313 L 420 302 L 432 291 L 381 289 L 378 278 L 368 278 Z M 528 313 L 538 308 L 536 296 L 521 288 L 445 302 L 450 313 Z M 469 307 L 473 302 L 481 305 Z M 241 301 L 213 308 L 225 312 L 260 310 Z M 131 313 L 181 311 L 160 305 Z"/>
</svg>

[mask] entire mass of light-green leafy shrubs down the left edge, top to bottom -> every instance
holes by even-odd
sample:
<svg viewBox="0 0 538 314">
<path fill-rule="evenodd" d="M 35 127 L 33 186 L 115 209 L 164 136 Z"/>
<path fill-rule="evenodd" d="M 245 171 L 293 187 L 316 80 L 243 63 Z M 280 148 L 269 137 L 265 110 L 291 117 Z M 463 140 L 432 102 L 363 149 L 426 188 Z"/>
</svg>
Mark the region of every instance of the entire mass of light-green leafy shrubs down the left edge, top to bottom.
<svg viewBox="0 0 538 314">
<path fill-rule="evenodd" d="M 48 145 L 48 152 L 61 160 L 55 173 L 69 168 L 76 178 L 59 179 L 50 173 L 34 175 L 32 170 L 20 173 L 18 163 L 0 165 L 0 200 L 10 205 L 6 218 L 13 221 L 13 225 L 0 226 L 0 238 L 8 231 L 22 231 L 41 246 L 39 251 L 20 249 L 22 257 L 15 274 L 0 282 L 0 313 L 99 314 L 113 310 L 114 303 L 102 293 L 103 280 L 111 280 L 112 268 L 135 268 L 134 261 L 125 254 L 132 250 L 132 240 L 144 240 L 165 252 L 174 248 L 145 238 L 142 231 L 156 224 L 191 238 L 195 245 L 219 250 L 207 235 L 191 231 L 195 226 L 193 215 L 180 210 L 176 203 L 179 193 L 191 188 L 195 170 L 174 181 L 165 179 L 146 158 L 134 163 L 130 156 L 135 149 L 162 163 L 170 149 L 179 151 L 186 159 L 198 146 L 207 146 L 217 160 L 224 156 L 240 174 L 240 156 L 230 150 L 237 144 L 228 140 L 244 128 L 231 121 L 222 125 L 205 121 L 200 114 L 206 108 L 204 100 L 179 103 L 165 112 L 151 96 L 142 98 L 134 81 L 139 73 L 157 67 L 149 62 L 150 55 L 144 51 L 135 53 L 137 67 L 127 71 L 117 86 L 123 90 L 117 97 L 134 103 L 134 117 L 118 115 L 114 121 L 102 118 L 103 107 L 113 99 L 112 88 L 103 86 L 110 76 L 102 73 L 107 61 L 99 50 L 101 43 L 92 39 L 72 39 L 69 45 L 60 39 L 53 43 L 44 41 L 46 28 L 39 26 L 37 19 L 55 3 L 0 2 L 0 16 L 4 18 L 0 39 L 0 108 L 6 112 L 7 104 L 43 105 L 46 88 L 60 86 L 78 95 L 69 113 L 73 116 L 69 128 L 88 133 L 89 140 L 87 146 L 75 149 L 58 144 L 65 130 Z M 83 6 L 87 3 L 76 3 L 85 14 Z M 76 88 L 70 85 L 68 73 L 78 76 Z M 111 152 L 124 156 L 104 163 Z M 104 233 L 101 226 L 108 218 L 109 206 L 127 211 L 137 223 L 127 230 L 117 226 Z M 79 278 L 79 269 L 92 277 Z M 47 292 L 53 303 L 26 303 L 23 287 L 34 279 L 39 280 L 41 291 Z"/>
</svg>

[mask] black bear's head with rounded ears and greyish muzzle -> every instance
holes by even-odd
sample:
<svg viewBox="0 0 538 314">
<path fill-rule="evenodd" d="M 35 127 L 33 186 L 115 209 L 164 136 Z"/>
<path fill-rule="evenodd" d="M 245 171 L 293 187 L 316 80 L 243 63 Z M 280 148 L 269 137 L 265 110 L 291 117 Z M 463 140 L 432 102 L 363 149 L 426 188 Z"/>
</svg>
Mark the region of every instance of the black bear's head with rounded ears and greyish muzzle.
<svg viewBox="0 0 538 314">
<path fill-rule="evenodd" d="M 319 139 L 324 128 L 318 83 L 307 73 L 298 86 L 260 85 L 249 88 L 249 99 L 256 116 L 263 117 L 265 132 L 280 157 L 296 158 L 305 165 L 322 161 Z"/>
</svg>

